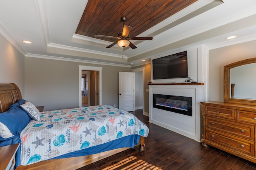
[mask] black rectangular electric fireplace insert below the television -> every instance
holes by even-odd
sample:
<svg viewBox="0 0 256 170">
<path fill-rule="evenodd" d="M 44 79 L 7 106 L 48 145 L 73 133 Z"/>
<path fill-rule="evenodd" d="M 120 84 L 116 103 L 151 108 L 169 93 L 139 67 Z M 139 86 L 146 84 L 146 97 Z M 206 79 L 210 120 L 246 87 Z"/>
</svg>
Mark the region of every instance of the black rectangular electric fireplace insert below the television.
<svg viewBox="0 0 256 170">
<path fill-rule="evenodd" d="M 192 116 L 192 97 L 153 94 L 153 107 Z"/>
</svg>

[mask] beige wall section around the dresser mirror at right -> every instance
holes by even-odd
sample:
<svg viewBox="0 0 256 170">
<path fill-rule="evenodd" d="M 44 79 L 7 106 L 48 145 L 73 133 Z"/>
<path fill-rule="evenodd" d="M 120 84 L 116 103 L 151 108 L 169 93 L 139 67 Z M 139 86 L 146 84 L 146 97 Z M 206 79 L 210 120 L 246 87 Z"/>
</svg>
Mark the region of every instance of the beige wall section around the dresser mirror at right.
<svg viewBox="0 0 256 170">
<path fill-rule="evenodd" d="M 230 45 L 209 51 L 209 100 L 223 102 L 223 67 L 256 57 L 256 41 Z"/>
</svg>

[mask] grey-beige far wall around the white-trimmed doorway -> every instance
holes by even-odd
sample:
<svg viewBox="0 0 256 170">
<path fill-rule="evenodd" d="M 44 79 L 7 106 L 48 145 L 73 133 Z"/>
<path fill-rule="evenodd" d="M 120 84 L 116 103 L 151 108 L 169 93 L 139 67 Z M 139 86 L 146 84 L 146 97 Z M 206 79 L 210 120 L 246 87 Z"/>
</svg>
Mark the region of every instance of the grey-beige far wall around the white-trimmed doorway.
<svg viewBox="0 0 256 170">
<path fill-rule="evenodd" d="M 79 65 L 102 67 L 102 104 L 118 106 L 118 71 L 129 67 L 25 58 L 25 100 L 44 110 L 79 107 Z"/>
</svg>

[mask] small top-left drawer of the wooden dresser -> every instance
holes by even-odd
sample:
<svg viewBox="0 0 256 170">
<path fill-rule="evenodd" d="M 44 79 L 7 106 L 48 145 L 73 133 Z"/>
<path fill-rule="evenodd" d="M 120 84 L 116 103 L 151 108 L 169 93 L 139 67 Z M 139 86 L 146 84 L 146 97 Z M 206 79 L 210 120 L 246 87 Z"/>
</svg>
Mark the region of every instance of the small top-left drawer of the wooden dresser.
<svg viewBox="0 0 256 170">
<path fill-rule="evenodd" d="M 226 119 L 235 120 L 235 110 L 228 109 L 228 108 L 206 106 L 205 115 L 212 115 L 212 116 L 224 117 Z"/>
</svg>

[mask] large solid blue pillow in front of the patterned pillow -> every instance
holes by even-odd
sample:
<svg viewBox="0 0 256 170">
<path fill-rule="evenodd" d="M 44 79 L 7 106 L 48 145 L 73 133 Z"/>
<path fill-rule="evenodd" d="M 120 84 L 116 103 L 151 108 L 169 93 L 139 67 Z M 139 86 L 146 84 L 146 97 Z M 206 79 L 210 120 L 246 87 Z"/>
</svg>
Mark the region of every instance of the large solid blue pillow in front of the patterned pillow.
<svg viewBox="0 0 256 170">
<path fill-rule="evenodd" d="M 30 121 L 30 117 L 20 106 L 12 106 L 0 113 L 0 122 L 6 125 L 13 135 L 18 135 Z"/>
</svg>

